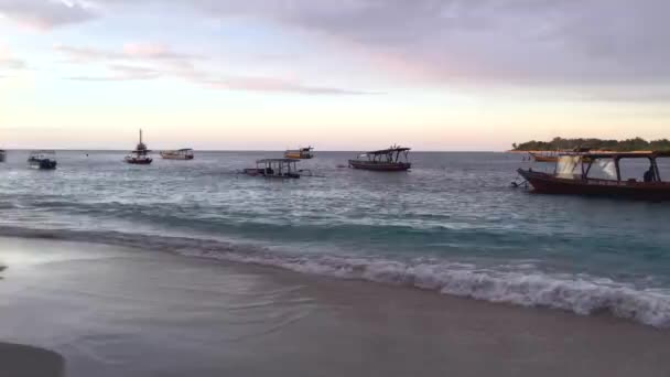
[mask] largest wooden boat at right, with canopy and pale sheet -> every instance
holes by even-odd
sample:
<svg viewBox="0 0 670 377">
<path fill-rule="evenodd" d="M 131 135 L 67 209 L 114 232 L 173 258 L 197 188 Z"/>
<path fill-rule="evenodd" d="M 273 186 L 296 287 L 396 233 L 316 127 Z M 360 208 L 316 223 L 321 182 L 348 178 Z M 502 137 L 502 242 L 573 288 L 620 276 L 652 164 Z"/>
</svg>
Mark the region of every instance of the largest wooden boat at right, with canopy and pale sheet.
<svg viewBox="0 0 670 377">
<path fill-rule="evenodd" d="M 553 173 L 532 169 L 519 169 L 518 173 L 537 193 L 670 200 L 670 182 L 661 180 L 658 169 L 660 158 L 670 158 L 670 152 L 570 153 L 559 157 Z M 649 161 L 641 180 L 623 176 L 620 161 L 626 159 Z M 594 166 L 604 173 L 604 179 L 594 176 Z"/>
</svg>

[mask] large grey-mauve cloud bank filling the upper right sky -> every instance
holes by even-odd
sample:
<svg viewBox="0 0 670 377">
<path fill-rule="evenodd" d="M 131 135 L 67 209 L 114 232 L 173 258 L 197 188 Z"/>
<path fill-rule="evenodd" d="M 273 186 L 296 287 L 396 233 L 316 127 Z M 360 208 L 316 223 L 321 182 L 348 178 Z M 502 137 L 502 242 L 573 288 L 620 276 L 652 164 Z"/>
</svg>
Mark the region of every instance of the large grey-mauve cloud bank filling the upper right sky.
<svg viewBox="0 0 670 377">
<path fill-rule="evenodd" d="M 108 4 L 129 0 L 101 0 Z M 174 0 L 310 33 L 424 83 L 670 80 L 666 0 Z"/>
</svg>

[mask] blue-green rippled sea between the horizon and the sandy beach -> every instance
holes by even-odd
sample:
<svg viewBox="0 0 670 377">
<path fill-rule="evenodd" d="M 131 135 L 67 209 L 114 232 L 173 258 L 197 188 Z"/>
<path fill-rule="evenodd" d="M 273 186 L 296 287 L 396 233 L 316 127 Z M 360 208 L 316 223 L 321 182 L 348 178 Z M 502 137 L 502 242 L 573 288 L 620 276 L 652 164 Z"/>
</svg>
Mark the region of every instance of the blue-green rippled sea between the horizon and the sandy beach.
<svg viewBox="0 0 670 377">
<path fill-rule="evenodd" d="M 670 327 L 670 203 L 533 194 L 511 186 L 516 170 L 552 168 L 522 154 L 415 152 L 411 171 L 380 173 L 344 168 L 356 152 L 317 151 L 299 163 L 314 176 L 270 180 L 237 172 L 281 152 L 155 155 L 137 166 L 123 163 L 123 151 L 57 151 L 56 171 L 28 169 L 28 153 L 9 151 L 0 163 L 0 236 L 266 265 Z M 639 177 L 646 169 L 629 168 Z M 661 171 L 670 176 L 670 166 Z"/>
</svg>

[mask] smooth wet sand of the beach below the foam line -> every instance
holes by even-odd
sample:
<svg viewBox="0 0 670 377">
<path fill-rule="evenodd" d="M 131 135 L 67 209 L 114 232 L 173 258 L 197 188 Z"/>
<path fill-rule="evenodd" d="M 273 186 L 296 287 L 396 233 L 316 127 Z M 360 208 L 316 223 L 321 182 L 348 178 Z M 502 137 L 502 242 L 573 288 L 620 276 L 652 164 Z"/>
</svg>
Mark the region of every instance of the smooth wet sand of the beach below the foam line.
<svg viewBox="0 0 670 377">
<path fill-rule="evenodd" d="M 0 341 L 67 376 L 668 376 L 670 332 L 160 251 L 0 238 Z"/>
</svg>

